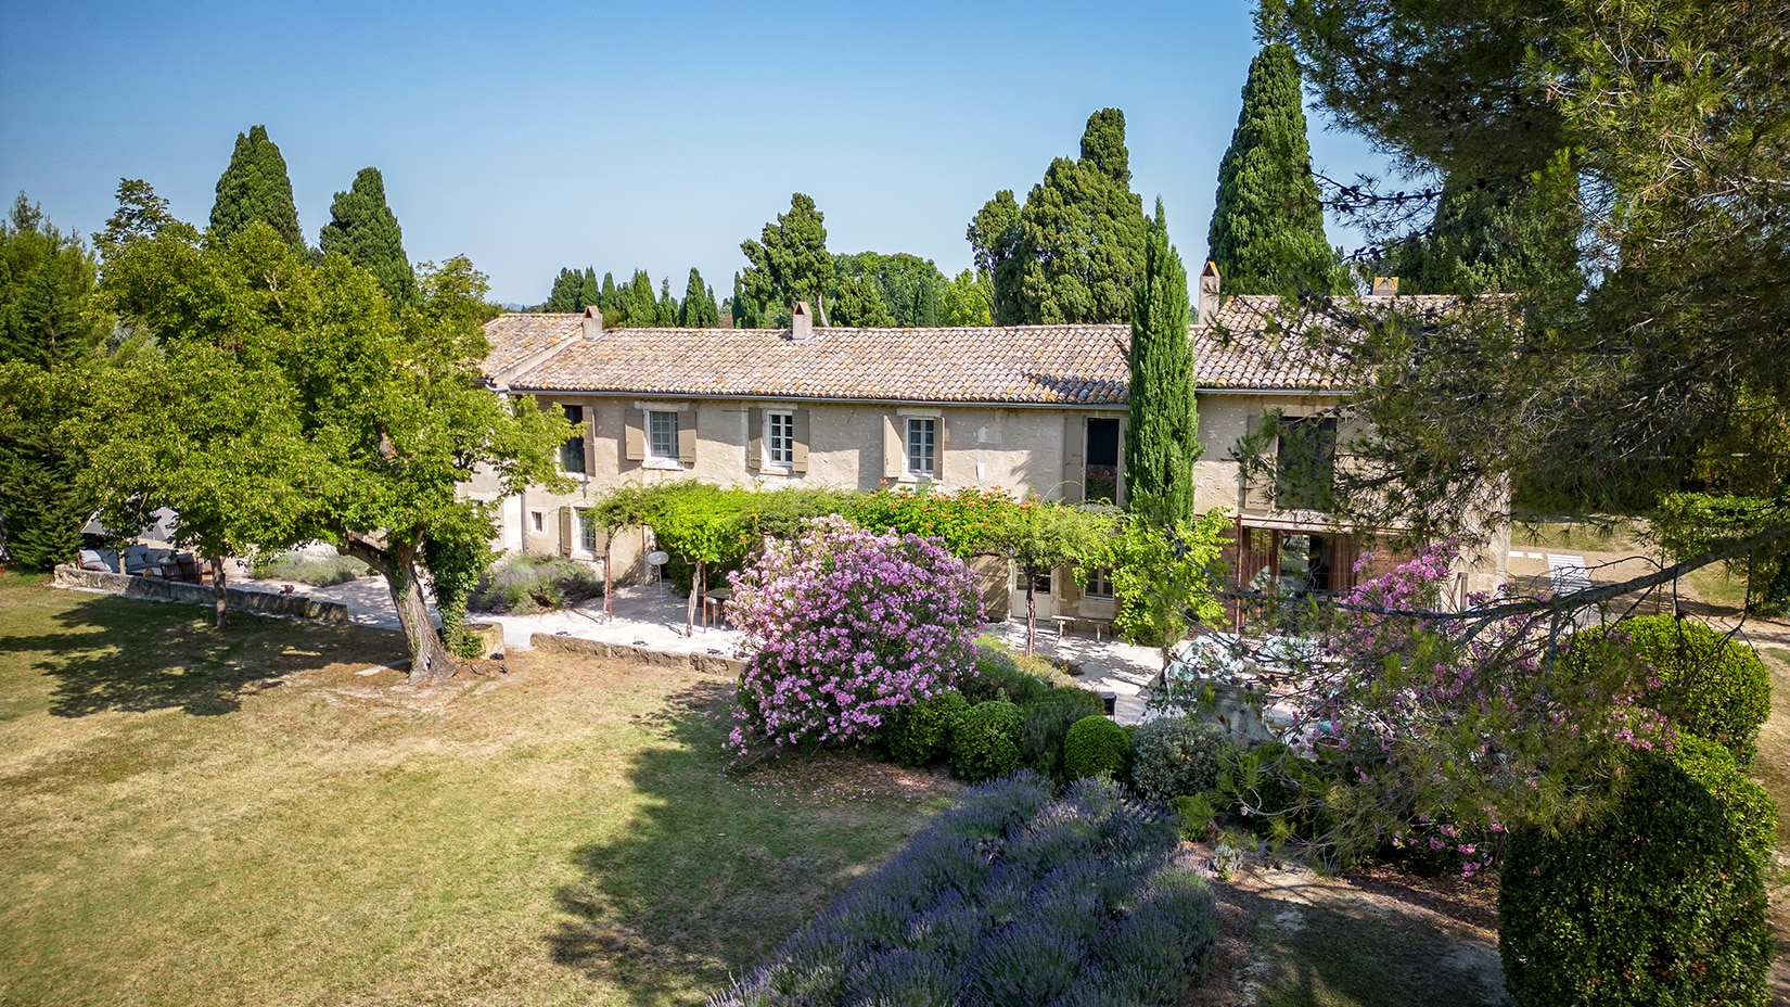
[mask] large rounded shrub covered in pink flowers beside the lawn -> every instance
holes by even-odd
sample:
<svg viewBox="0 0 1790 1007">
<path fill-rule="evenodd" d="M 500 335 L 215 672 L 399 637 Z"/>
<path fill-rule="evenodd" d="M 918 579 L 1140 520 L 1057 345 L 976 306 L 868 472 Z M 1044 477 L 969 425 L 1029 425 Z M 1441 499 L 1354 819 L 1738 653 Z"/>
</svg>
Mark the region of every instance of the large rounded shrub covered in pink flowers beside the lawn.
<svg viewBox="0 0 1790 1007">
<path fill-rule="evenodd" d="M 981 584 L 938 539 L 814 518 L 730 581 L 746 634 L 736 763 L 872 740 L 895 710 L 974 674 Z"/>
</svg>

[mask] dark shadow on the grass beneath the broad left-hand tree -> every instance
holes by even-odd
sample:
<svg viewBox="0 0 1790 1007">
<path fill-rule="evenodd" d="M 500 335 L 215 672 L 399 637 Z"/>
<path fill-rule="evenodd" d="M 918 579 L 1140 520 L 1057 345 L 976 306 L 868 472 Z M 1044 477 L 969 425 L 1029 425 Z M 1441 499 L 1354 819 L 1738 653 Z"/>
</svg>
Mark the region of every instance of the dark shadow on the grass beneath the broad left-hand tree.
<svg viewBox="0 0 1790 1007">
<path fill-rule="evenodd" d="M 55 683 L 55 717 L 154 710 L 218 717 L 295 672 L 406 654 L 403 636 L 387 631 L 242 613 L 220 631 L 206 609 L 129 598 L 90 598 L 50 618 L 57 631 L 9 634 L 4 645 L 45 654 L 32 668 Z"/>
</svg>

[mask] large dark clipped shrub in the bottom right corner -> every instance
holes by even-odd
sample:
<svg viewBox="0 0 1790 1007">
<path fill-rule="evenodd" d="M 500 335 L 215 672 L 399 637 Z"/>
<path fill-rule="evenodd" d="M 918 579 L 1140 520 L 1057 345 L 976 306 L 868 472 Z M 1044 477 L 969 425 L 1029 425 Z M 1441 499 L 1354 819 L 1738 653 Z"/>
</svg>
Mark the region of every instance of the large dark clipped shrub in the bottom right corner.
<svg viewBox="0 0 1790 1007">
<path fill-rule="evenodd" d="M 1715 742 L 1636 753 L 1613 805 L 1511 837 L 1498 944 L 1522 1007 L 1765 1003 L 1776 812 Z"/>
</svg>

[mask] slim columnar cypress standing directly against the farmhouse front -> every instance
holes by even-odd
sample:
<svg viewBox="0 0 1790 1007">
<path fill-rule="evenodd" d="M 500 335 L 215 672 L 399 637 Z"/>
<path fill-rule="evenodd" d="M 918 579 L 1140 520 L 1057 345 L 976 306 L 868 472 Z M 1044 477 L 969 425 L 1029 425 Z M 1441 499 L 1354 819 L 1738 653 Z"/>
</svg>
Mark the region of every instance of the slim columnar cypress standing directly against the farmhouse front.
<svg viewBox="0 0 1790 1007">
<path fill-rule="evenodd" d="M 1146 222 L 1144 274 L 1131 301 L 1131 421 L 1124 482 L 1131 511 L 1172 525 L 1194 516 L 1194 342 L 1187 333 L 1187 269 L 1169 244 L 1156 201 Z"/>
</svg>

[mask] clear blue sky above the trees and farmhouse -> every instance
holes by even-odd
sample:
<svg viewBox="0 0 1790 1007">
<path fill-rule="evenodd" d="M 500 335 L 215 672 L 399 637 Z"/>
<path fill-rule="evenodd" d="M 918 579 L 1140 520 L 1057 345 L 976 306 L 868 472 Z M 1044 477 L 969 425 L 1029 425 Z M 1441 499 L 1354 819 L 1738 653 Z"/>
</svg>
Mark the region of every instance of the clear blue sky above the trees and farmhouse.
<svg viewBox="0 0 1790 1007">
<path fill-rule="evenodd" d="M 1020 199 L 1088 113 L 1124 109 L 1133 188 L 1205 251 L 1255 54 L 1251 5 L 61 4 L 0 9 L 0 194 L 90 235 L 120 177 L 202 224 L 236 133 L 265 124 L 308 240 L 374 165 L 413 260 L 464 253 L 499 301 L 562 265 L 716 296 L 791 192 L 836 253 L 968 265 L 963 228 Z M 1380 170 L 1312 120 L 1316 163 Z M 1332 224 L 1334 244 L 1353 238 Z"/>
</svg>

